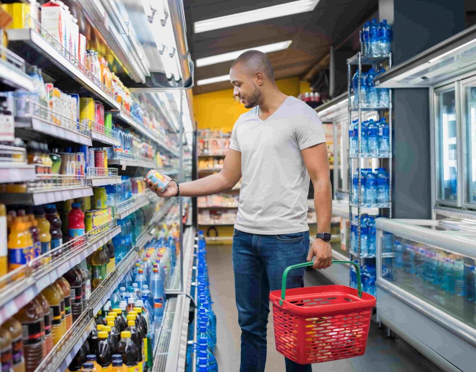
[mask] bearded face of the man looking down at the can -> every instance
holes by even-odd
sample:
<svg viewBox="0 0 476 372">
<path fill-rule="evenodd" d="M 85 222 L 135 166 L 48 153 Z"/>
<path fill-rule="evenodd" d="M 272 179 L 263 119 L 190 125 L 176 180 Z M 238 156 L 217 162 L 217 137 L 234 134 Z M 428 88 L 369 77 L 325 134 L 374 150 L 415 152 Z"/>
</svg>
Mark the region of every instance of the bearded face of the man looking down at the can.
<svg viewBox="0 0 476 372">
<path fill-rule="evenodd" d="M 230 81 L 234 85 L 233 95 L 245 108 L 251 109 L 258 104 L 261 90 L 256 76 L 251 75 L 239 63 L 230 69 Z"/>
</svg>

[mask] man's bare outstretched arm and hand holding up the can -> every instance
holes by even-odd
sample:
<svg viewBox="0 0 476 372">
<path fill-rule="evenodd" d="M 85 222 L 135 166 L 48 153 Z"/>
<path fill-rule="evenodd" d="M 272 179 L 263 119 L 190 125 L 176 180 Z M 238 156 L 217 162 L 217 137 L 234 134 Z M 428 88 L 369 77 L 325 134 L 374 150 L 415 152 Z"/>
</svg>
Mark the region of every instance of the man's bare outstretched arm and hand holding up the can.
<svg viewBox="0 0 476 372">
<path fill-rule="evenodd" d="M 170 180 L 169 177 L 166 177 Z M 220 191 L 230 190 L 241 178 L 241 152 L 232 149 L 228 150 L 223 162 L 223 169 L 220 173 L 201 178 L 199 180 L 180 184 L 181 196 L 205 196 L 215 194 Z M 155 192 L 155 185 L 150 180 L 146 180 L 147 187 Z M 177 185 L 171 182 L 164 192 L 157 191 L 157 195 L 163 197 L 175 196 Z"/>
</svg>

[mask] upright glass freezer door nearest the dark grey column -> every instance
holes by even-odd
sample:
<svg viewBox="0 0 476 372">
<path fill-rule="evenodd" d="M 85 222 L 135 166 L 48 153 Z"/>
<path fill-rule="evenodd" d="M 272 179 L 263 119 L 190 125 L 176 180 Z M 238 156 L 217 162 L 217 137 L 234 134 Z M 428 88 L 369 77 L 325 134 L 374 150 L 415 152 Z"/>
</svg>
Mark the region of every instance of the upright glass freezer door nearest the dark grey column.
<svg viewBox="0 0 476 372">
<path fill-rule="evenodd" d="M 441 204 L 456 205 L 458 125 L 455 88 L 435 92 L 436 199 Z"/>
</svg>

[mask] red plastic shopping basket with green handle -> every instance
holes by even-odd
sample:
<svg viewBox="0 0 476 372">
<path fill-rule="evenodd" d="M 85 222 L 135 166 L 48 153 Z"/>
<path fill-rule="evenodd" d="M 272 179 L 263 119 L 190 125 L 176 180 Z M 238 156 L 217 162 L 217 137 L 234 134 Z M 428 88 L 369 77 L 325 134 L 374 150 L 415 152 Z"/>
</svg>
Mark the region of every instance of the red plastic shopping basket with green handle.
<svg viewBox="0 0 476 372">
<path fill-rule="evenodd" d="M 355 262 L 332 262 L 356 266 L 358 290 L 341 285 L 286 290 L 289 270 L 313 265 L 305 262 L 287 267 L 281 291 L 269 295 L 276 350 L 296 363 L 329 362 L 365 353 L 376 299 L 362 292 L 360 270 Z"/>
</svg>

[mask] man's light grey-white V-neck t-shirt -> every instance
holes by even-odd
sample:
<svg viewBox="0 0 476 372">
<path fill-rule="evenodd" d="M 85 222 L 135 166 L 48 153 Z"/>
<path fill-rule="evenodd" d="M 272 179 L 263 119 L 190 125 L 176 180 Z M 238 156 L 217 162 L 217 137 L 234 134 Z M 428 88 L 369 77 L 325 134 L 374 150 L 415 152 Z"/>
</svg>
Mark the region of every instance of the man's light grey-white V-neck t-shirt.
<svg viewBox="0 0 476 372">
<path fill-rule="evenodd" d="M 250 234 L 308 231 L 309 174 L 301 150 L 326 141 L 317 113 L 288 97 L 265 121 L 259 107 L 242 114 L 230 148 L 241 152 L 242 183 L 235 228 Z"/>
</svg>

